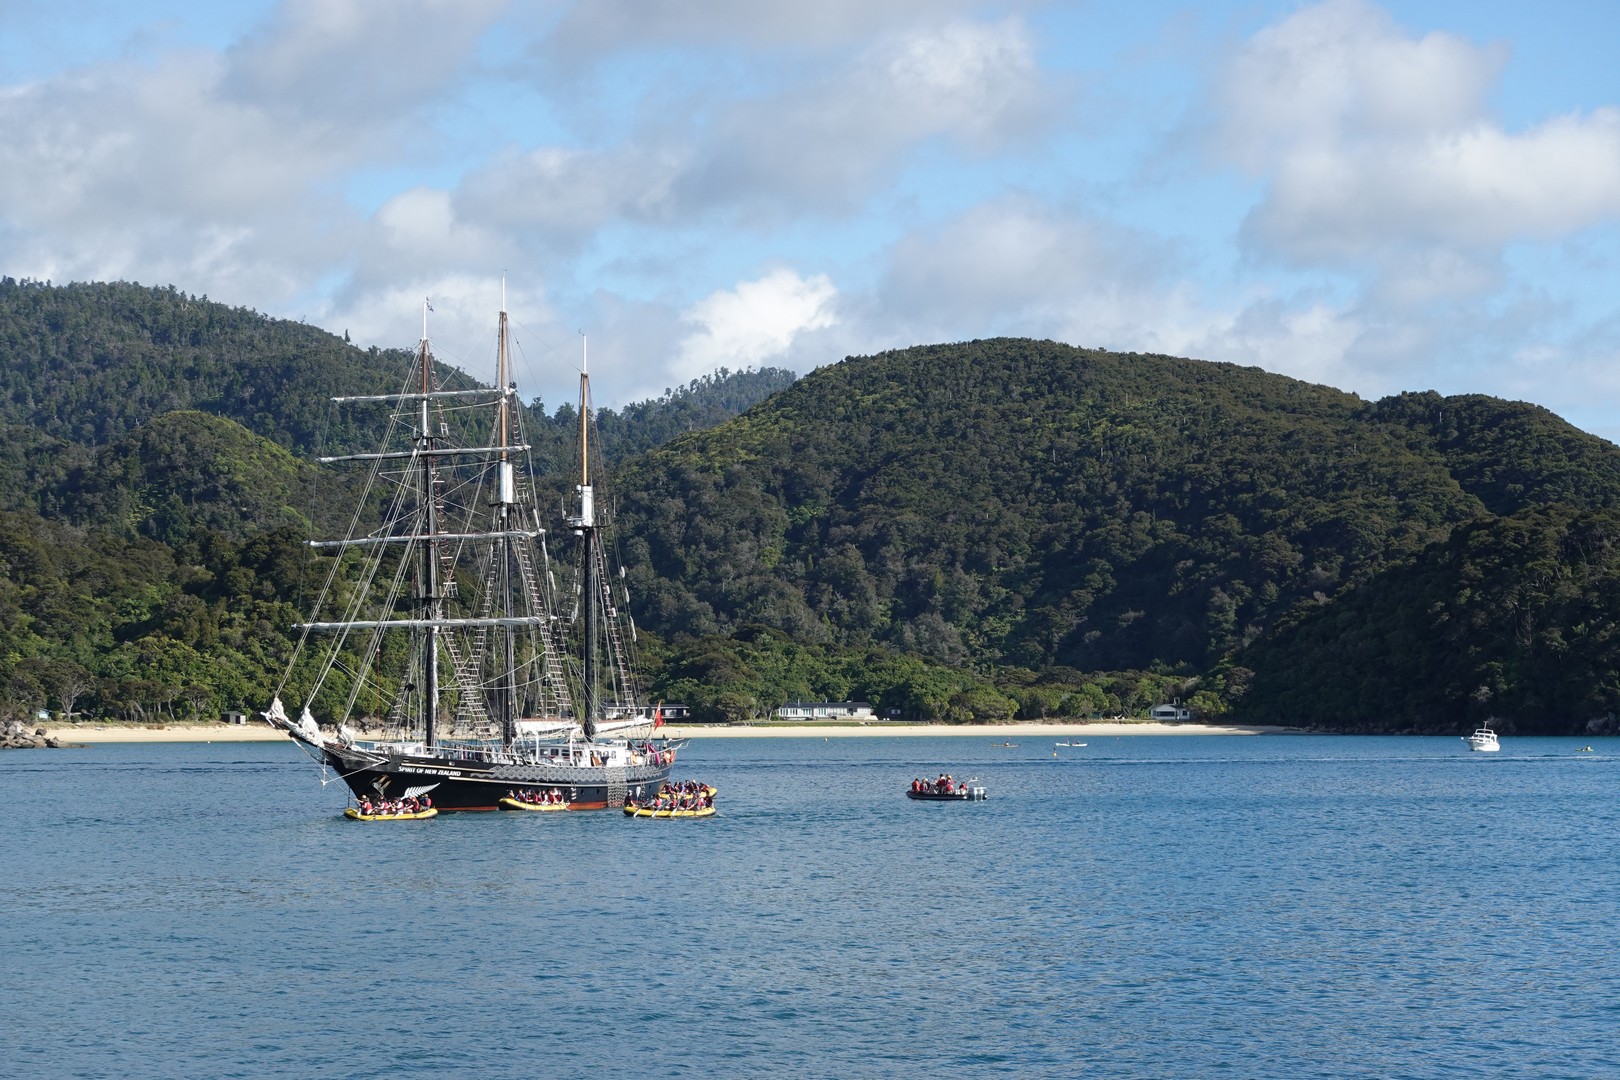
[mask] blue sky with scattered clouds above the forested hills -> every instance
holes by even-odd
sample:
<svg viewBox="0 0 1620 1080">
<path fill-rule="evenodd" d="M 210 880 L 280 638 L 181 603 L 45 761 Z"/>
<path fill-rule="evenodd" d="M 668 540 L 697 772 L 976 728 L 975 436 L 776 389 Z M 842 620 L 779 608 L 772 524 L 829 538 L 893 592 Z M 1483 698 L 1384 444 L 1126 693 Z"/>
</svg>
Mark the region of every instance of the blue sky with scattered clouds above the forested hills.
<svg viewBox="0 0 1620 1080">
<path fill-rule="evenodd" d="M 0 0 L 0 274 L 601 403 L 993 335 L 1620 437 L 1620 5 Z"/>
</svg>

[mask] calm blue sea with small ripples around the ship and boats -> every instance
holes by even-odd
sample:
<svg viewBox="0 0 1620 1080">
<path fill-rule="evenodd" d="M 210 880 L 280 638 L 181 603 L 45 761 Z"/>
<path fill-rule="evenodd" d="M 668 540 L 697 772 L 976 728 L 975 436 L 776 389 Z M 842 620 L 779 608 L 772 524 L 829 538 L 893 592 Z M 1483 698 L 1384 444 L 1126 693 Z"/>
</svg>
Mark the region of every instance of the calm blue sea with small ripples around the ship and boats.
<svg viewBox="0 0 1620 1080">
<path fill-rule="evenodd" d="M 0 1072 L 1620 1075 L 1620 740 L 1055 742 L 369 826 L 290 745 L 11 751 Z"/>
</svg>

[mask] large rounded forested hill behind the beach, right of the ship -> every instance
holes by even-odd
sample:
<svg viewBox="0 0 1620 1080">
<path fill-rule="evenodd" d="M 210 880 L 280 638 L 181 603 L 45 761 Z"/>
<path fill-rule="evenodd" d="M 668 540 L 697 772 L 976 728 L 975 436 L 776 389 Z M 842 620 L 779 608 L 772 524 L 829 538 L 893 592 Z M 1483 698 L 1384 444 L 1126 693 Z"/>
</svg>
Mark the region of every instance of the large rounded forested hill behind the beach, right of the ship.
<svg viewBox="0 0 1620 1080">
<path fill-rule="evenodd" d="M 985 340 L 816 371 L 622 489 L 664 633 L 1196 674 L 1461 523 L 1620 505 L 1620 450 L 1523 403 Z"/>
</svg>

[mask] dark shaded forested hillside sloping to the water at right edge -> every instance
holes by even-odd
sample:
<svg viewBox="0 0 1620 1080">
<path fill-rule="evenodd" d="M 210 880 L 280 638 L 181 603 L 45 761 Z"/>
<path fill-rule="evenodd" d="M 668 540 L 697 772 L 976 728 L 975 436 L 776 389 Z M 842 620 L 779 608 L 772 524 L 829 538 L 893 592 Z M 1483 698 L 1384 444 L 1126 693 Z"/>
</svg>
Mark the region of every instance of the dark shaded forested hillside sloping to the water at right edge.
<svg viewBox="0 0 1620 1080">
<path fill-rule="evenodd" d="M 1330 730 L 1615 733 L 1620 510 L 1477 518 L 1241 657 L 1249 717 Z M 1252 672 L 1252 678 L 1247 678 Z"/>
</svg>

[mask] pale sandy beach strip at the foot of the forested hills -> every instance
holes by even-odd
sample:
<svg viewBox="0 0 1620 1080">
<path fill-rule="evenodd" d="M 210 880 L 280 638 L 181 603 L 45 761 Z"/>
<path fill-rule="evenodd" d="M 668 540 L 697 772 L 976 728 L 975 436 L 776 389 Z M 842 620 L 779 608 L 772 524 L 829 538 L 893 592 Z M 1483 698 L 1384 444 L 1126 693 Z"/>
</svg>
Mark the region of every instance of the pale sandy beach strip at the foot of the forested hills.
<svg viewBox="0 0 1620 1080">
<path fill-rule="evenodd" d="M 1298 733 L 1296 727 L 1277 724 L 1155 724 L 1152 721 L 1119 722 L 1017 722 L 1017 724 L 666 724 L 659 735 L 669 738 L 915 738 L 928 735 L 972 738 L 1072 738 L 1090 735 L 1108 738 L 1115 735 L 1285 735 Z M 269 743 L 284 742 L 287 732 L 267 724 L 83 724 L 71 727 L 47 727 L 45 735 L 63 745 L 73 743 Z"/>
</svg>

